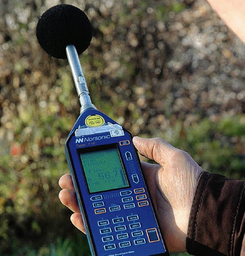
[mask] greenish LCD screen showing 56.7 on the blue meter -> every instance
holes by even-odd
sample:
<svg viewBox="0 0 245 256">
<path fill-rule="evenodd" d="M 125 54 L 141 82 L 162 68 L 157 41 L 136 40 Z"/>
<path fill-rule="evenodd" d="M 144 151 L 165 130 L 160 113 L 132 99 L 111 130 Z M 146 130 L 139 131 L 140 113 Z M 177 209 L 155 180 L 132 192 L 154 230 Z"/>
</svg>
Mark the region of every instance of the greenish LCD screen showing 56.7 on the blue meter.
<svg viewBox="0 0 245 256">
<path fill-rule="evenodd" d="M 129 187 L 118 147 L 92 147 L 78 152 L 89 193 Z"/>
</svg>

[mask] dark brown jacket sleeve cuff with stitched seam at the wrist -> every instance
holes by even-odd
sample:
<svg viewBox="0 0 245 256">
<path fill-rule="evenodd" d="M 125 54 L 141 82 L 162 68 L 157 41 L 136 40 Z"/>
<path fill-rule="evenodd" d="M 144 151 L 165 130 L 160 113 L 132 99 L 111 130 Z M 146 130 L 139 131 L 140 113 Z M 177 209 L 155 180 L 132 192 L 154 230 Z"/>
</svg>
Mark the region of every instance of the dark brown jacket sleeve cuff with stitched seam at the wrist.
<svg viewBox="0 0 245 256">
<path fill-rule="evenodd" d="M 189 218 L 186 248 L 198 256 L 245 256 L 245 182 L 202 173 Z"/>
</svg>

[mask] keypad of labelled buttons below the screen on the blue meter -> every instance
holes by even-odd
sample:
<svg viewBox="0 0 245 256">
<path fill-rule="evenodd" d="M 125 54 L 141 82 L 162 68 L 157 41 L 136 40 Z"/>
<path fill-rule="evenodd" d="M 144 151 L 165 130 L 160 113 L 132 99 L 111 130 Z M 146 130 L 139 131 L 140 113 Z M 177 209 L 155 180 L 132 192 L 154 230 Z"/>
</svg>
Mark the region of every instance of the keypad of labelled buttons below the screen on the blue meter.
<svg viewBox="0 0 245 256">
<path fill-rule="evenodd" d="M 119 194 L 118 194 L 119 195 Z M 106 251 L 116 248 L 124 248 L 132 245 L 139 245 L 145 243 L 153 243 L 160 241 L 157 233 L 157 228 L 144 229 L 140 222 L 140 214 L 132 214 L 129 209 L 149 205 L 147 194 L 144 188 L 137 188 L 133 191 L 124 190 L 120 192 L 121 204 L 106 205 L 106 199 L 102 199 L 101 195 L 92 196 L 90 199 L 95 214 L 102 214 L 101 219 L 98 220 L 98 230 L 101 234 L 104 249 Z M 102 206 L 102 207 L 101 207 Z M 117 211 L 116 218 L 105 219 L 109 212 Z M 126 217 L 121 217 L 120 213 L 123 211 L 129 213 Z M 126 241 L 125 241 L 126 240 Z M 130 241 L 129 241 L 130 240 Z M 111 243 L 113 241 L 113 243 Z M 109 243 L 109 244 L 108 244 Z"/>
</svg>

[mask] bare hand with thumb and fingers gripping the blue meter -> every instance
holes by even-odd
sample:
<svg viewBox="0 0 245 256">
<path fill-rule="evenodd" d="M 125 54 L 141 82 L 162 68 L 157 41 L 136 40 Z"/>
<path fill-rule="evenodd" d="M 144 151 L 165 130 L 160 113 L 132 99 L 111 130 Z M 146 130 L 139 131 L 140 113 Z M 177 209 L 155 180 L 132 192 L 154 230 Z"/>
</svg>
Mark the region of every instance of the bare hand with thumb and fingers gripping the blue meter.
<svg viewBox="0 0 245 256">
<path fill-rule="evenodd" d="M 133 138 L 141 155 L 158 164 L 142 162 L 158 220 L 170 252 L 186 251 L 191 205 L 202 168 L 191 156 L 163 139 Z M 71 221 L 85 233 L 70 174 L 59 180 L 60 201 L 74 213 Z"/>
</svg>

